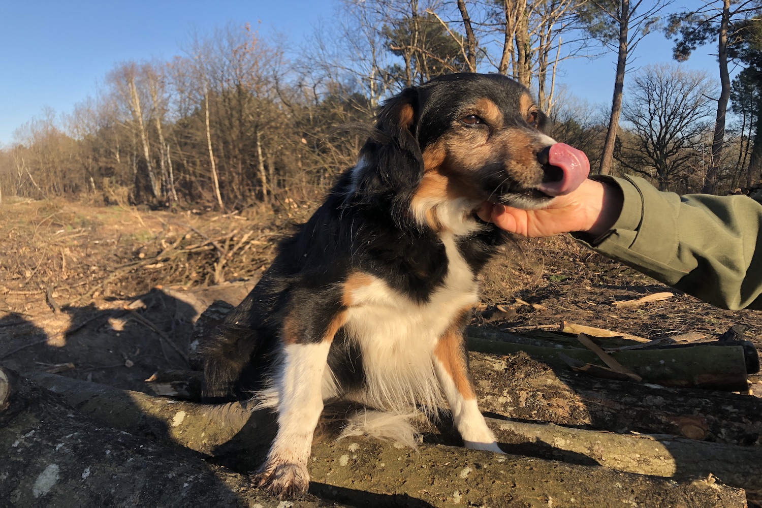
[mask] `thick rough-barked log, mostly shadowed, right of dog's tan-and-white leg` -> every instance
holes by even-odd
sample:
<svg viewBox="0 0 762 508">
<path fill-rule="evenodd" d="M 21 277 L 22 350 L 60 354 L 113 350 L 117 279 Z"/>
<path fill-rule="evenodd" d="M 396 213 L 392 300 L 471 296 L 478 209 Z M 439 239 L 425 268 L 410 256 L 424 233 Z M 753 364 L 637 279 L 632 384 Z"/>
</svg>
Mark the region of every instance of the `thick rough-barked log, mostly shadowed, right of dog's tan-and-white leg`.
<svg viewBox="0 0 762 508">
<path fill-rule="evenodd" d="M 762 446 L 762 399 L 554 370 L 525 352 L 471 353 L 479 408 L 504 417 L 617 433 Z"/>
</svg>

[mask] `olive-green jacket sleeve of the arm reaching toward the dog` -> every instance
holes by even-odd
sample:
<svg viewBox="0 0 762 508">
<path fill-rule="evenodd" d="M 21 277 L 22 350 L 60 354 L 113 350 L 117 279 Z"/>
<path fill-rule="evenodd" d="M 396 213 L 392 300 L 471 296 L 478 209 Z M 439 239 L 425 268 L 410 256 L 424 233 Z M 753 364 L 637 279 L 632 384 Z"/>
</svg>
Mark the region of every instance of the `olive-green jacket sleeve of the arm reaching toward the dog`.
<svg viewBox="0 0 762 508">
<path fill-rule="evenodd" d="M 574 235 L 595 251 L 722 308 L 762 309 L 758 196 L 678 196 L 642 178 L 599 177 L 624 206 L 606 235 Z"/>
</svg>

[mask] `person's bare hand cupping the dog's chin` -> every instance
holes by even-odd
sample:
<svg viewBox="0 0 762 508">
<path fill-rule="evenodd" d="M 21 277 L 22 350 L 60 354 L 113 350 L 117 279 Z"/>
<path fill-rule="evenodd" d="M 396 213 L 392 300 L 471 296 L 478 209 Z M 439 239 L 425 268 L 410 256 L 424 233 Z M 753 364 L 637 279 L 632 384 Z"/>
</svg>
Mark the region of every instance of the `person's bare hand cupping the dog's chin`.
<svg viewBox="0 0 762 508">
<path fill-rule="evenodd" d="M 571 193 L 556 196 L 543 209 L 518 209 L 482 203 L 477 213 L 507 232 L 540 238 L 566 232 L 598 236 L 619 218 L 623 198 L 620 190 L 599 181 L 585 180 Z"/>
</svg>

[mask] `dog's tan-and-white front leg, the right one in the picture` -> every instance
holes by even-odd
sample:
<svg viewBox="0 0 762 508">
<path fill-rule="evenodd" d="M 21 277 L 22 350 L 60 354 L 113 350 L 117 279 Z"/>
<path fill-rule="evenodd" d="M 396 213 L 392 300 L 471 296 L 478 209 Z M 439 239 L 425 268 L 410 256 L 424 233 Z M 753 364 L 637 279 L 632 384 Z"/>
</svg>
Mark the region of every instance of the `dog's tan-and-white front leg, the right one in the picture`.
<svg viewBox="0 0 762 508">
<path fill-rule="evenodd" d="M 463 333 L 454 328 L 440 337 L 434 348 L 434 367 L 450 404 L 453 423 L 463 437 L 466 448 L 504 453 L 476 404 L 467 354 Z"/>
</svg>

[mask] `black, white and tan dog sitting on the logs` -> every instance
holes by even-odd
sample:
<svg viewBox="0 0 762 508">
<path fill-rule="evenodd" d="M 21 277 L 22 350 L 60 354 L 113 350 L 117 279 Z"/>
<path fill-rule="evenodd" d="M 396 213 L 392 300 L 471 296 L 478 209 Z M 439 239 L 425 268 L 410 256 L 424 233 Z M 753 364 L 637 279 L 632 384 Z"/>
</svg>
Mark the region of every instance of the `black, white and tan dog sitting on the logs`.
<svg viewBox="0 0 762 508">
<path fill-rule="evenodd" d="M 475 209 L 542 208 L 581 184 L 587 159 L 549 129 L 503 75 L 444 75 L 383 104 L 357 165 L 207 343 L 205 401 L 254 395 L 277 410 L 261 487 L 306 491 L 328 400 L 401 417 L 447 401 L 467 447 L 501 452 L 476 404 L 463 327 L 508 235 Z M 408 432 L 373 411 L 359 420 L 372 434 Z"/>
</svg>

